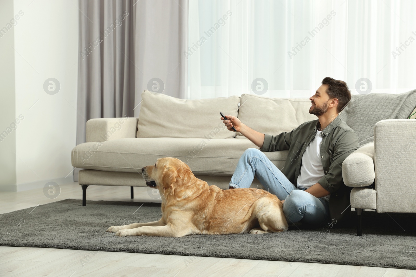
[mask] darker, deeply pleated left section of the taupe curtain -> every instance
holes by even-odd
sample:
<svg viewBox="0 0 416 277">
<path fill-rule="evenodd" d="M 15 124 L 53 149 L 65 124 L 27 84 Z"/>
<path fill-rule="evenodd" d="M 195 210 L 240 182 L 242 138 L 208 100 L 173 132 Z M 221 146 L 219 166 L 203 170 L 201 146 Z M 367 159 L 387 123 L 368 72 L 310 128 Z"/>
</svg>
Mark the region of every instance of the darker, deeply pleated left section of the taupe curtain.
<svg viewBox="0 0 416 277">
<path fill-rule="evenodd" d="M 135 8 L 131 0 L 79 1 L 77 145 L 91 118 L 134 116 Z"/>
</svg>

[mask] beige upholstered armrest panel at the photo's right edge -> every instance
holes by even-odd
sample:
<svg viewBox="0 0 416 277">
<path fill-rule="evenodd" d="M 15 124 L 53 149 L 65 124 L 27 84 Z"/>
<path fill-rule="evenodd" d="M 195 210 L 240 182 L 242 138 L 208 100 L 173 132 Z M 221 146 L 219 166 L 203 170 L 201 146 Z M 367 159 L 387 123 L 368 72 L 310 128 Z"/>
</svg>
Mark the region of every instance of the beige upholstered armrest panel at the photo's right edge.
<svg viewBox="0 0 416 277">
<path fill-rule="evenodd" d="M 416 119 L 374 126 L 377 212 L 416 213 Z"/>
</svg>

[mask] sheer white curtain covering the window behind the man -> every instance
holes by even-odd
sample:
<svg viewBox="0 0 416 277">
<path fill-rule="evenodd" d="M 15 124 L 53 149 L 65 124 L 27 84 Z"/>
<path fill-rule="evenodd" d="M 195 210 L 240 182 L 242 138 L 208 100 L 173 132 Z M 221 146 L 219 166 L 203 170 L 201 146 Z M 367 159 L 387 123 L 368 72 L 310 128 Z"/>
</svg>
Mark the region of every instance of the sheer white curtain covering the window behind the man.
<svg viewBox="0 0 416 277">
<path fill-rule="evenodd" d="M 326 76 L 371 93 L 416 88 L 416 1 L 189 0 L 190 99 L 310 97 Z M 208 32 L 210 30 L 210 32 Z M 361 84 L 361 83 L 360 83 Z"/>
</svg>

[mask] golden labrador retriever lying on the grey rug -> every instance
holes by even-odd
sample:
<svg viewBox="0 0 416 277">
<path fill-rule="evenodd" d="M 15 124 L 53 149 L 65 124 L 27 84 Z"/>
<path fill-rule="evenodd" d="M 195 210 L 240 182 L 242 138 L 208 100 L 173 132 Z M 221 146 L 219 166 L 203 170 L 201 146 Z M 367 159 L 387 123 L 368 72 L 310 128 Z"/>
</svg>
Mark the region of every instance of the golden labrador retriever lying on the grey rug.
<svg viewBox="0 0 416 277">
<path fill-rule="evenodd" d="M 157 159 L 141 169 L 146 184 L 157 188 L 162 218 L 148 223 L 111 226 L 107 232 L 124 237 L 151 235 L 263 234 L 286 231 L 282 202 L 262 189 L 208 186 L 188 165 L 176 158 Z"/>
</svg>

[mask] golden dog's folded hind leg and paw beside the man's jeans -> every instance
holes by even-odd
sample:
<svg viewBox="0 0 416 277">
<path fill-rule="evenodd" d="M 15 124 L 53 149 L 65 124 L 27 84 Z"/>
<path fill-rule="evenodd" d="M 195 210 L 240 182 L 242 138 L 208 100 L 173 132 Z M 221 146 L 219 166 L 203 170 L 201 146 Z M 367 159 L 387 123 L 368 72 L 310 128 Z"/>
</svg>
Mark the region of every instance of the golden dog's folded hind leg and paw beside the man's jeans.
<svg viewBox="0 0 416 277">
<path fill-rule="evenodd" d="M 274 199 L 263 198 L 255 203 L 255 213 L 260 228 L 250 230 L 250 234 L 283 232 L 288 229 L 282 203 Z"/>
</svg>

